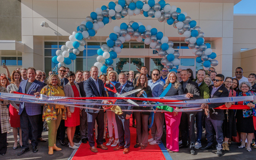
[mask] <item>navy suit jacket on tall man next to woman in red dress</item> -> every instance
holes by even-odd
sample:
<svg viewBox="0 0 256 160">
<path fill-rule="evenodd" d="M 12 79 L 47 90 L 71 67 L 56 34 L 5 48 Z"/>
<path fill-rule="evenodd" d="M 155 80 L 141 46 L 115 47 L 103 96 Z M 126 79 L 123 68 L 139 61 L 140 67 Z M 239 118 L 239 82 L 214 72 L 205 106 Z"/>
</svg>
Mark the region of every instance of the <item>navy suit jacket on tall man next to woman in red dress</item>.
<svg viewBox="0 0 256 160">
<path fill-rule="evenodd" d="M 104 88 L 103 81 L 98 78 L 98 83 L 99 83 L 100 91 L 98 91 L 97 86 L 95 85 L 95 82 L 93 81 L 92 77 L 84 81 L 84 91 L 85 91 L 86 97 L 107 97 L 107 93 Z M 88 101 L 102 102 L 102 100 L 92 100 L 92 99 L 89 99 Z M 86 107 L 101 108 L 101 105 L 86 105 Z M 89 113 L 99 113 L 99 110 L 86 109 L 85 111 Z"/>
</svg>

